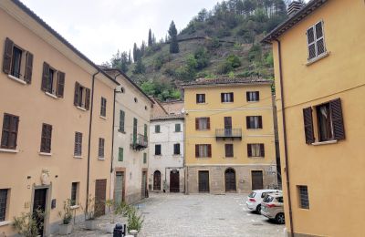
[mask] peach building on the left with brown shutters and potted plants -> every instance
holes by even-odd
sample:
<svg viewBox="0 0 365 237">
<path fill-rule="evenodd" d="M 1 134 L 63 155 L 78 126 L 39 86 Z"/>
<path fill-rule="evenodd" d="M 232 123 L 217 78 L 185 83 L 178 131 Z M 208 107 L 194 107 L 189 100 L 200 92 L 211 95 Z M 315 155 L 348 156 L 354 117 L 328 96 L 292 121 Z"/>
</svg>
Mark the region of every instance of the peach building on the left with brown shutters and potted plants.
<svg viewBox="0 0 365 237">
<path fill-rule="evenodd" d="M 118 83 L 19 1 L 0 2 L 0 22 L 0 235 L 36 210 L 48 235 L 68 199 L 77 218 L 88 194 L 105 212 Z"/>
</svg>

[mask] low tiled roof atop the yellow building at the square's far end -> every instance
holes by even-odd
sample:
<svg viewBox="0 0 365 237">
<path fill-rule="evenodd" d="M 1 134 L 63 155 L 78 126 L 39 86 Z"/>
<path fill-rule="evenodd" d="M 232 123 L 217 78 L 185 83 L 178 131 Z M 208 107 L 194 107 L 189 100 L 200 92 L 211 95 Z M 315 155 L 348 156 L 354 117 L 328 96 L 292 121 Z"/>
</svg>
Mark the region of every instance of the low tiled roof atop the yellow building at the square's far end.
<svg viewBox="0 0 365 237">
<path fill-rule="evenodd" d="M 183 88 L 195 86 L 219 86 L 230 84 L 272 84 L 273 81 L 262 77 L 219 77 L 219 78 L 198 78 L 191 82 L 181 84 Z"/>
</svg>

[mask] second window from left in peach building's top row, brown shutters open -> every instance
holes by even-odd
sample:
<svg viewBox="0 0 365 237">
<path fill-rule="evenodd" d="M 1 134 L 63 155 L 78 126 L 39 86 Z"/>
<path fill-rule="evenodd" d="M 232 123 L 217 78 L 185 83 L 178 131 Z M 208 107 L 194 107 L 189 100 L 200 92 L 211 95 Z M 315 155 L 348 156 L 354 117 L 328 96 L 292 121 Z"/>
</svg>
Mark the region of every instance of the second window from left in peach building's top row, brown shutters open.
<svg viewBox="0 0 365 237">
<path fill-rule="evenodd" d="M 65 88 L 65 73 L 43 63 L 42 87 L 41 89 L 57 98 L 63 98 Z"/>
</svg>

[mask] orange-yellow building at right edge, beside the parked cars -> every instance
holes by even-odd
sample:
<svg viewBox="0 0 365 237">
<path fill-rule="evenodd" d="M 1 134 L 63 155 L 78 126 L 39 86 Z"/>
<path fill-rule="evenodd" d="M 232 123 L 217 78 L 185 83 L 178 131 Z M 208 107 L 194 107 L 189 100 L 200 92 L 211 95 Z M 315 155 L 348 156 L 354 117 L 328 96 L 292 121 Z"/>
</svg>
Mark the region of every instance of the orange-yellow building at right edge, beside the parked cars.
<svg viewBox="0 0 365 237">
<path fill-rule="evenodd" d="M 264 39 L 294 236 L 364 236 L 364 13 L 362 0 L 312 0 Z"/>
</svg>

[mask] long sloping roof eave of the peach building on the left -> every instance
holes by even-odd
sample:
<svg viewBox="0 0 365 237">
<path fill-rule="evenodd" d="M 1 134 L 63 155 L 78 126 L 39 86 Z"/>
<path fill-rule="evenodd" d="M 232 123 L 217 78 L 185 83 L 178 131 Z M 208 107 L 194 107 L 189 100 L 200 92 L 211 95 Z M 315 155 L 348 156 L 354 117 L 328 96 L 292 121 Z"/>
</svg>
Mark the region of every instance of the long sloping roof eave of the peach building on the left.
<svg viewBox="0 0 365 237">
<path fill-rule="evenodd" d="M 51 33 L 53 36 L 55 36 L 59 41 L 61 41 L 62 44 L 65 46 L 68 46 L 69 49 L 71 49 L 78 57 L 81 57 L 83 60 L 85 60 L 87 63 L 89 63 L 90 66 L 95 67 L 101 74 L 103 74 L 105 77 L 108 77 L 112 82 L 114 82 L 117 85 L 120 85 L 114 78 L 110 77 L 107 73 L 105 73 L 103 70 L 100 70 L 100 68 L 92 62 L 89 57 L 86 57 L 84 54 L 82 54 L 75 46 L 72 46 L 68 40 L 66 40 L 63 36 L 59 35 L 56 30 L 54 30 L 51 26 L 48 26 L 47 23 L 42 20 L 38 15 L 36 15 L 32 10 L 30 10 L 26 5 L 24 5 L 19 0 L 12 0 L 12 2 L 17 5 L 20 9 L 22 9 L 27 15 L 32 17 L 39 25 L 46 28 L 46 30 Z"/>
</svg>

